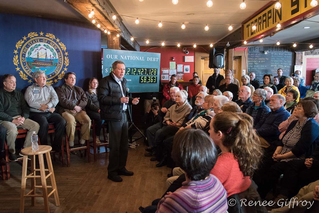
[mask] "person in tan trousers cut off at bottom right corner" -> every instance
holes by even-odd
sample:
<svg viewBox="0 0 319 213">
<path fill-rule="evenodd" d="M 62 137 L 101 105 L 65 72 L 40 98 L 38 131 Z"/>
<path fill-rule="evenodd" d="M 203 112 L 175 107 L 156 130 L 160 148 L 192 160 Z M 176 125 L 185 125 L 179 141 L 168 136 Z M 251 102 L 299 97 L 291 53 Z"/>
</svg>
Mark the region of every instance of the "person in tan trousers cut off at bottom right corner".
<svg viewBox="0 0 319 213">
<path fill-rule="evenodd" d="M 268 212 L 316 212 L 319 208 L 319 180 L 302 187 L 298 194 L 291 198 L 291 201 L 293 203 L 288 203 L 288 205 L 283 205 L 278 209 L 271 209 L 271 211 Z"/>
</svg>

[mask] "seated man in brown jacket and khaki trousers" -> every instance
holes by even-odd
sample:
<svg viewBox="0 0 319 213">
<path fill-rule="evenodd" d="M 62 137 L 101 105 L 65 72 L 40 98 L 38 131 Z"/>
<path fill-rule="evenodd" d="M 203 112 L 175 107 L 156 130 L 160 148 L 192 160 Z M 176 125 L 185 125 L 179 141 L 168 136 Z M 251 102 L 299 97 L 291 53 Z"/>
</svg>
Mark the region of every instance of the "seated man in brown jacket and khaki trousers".
<svg viewBox="0 0 319 213">
<path fill-rule="evenodd" d="M 75 86 L 76 76 L 74 72 L 64 75 L 65 84 L 56 88 L 59 97 L 59 113 L 66 121 L 66 135 L 69 139 L 70 149 L 74 148 L 74 131 L 76 121 L 81 123 L 80 146 L 83 147 L 86 140 L 90 139 L 91 119 L 85 112 L 87 97 L 81 87 Z M 81 150 L 82 151 L 82 150 Z M 76 151 L 71 152 L 76 154 Z"/>
</svg>

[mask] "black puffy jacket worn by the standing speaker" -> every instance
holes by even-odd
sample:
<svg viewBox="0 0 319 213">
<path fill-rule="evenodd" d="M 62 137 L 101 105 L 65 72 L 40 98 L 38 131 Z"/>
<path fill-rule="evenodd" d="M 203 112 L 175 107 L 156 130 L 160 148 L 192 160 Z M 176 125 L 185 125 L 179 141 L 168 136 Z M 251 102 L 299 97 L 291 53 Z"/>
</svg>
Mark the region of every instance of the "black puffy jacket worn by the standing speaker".
<svg viewBox="0 0 319 213">
<path fill-rule="evenodd" d="M 125 94 L 126 79 L 122 80 Z M 121 103 L 122 92 L 120 85 L 115 81 L 113 74 L 104 77 L 99 83 L 98 99 L 100 102 L 101 119 L 106 121 L 121 121 L 123 103 Z M 132 103 L 133 98 L 129 98 Z"/>
</svg>

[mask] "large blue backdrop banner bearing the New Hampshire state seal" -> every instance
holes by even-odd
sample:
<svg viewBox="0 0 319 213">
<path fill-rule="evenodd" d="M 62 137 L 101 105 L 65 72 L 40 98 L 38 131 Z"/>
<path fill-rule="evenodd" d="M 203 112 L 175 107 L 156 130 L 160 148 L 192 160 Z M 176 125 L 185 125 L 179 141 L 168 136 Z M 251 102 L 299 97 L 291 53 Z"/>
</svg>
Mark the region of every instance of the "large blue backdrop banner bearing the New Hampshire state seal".
<svg viewBox="0 0 319 213">
<path fill-rule="evenodd" d="M 0 14 L 1 75 L 17 79 L 17 89 L 33 84 L 34 71 L 42 70 L 47 84 L 64 83 L 75 72 L 77 84 L 98 77 L 101 65 L 101 31 L 84 23 Z"/>
</svg>

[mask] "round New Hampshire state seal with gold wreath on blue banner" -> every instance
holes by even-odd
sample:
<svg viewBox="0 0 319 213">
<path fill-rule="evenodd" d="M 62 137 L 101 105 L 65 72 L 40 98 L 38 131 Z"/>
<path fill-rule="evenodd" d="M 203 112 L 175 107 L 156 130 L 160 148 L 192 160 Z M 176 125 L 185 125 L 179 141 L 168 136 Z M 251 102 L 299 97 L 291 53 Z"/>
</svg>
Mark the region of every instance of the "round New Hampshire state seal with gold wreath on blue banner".
<svg viewBox="0 0 319 213">
<path fill-rule="evenodd" d="M 43 71 L 47 84 L 52 85 L 62 79 L 68 70 L 66 46 L 52 33 L 28 33 L 16 43 L 13 53 L 15 69 L 29 83 L 35 71 Z"/>
</svg>

